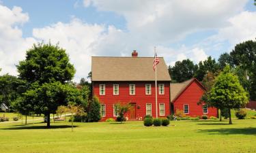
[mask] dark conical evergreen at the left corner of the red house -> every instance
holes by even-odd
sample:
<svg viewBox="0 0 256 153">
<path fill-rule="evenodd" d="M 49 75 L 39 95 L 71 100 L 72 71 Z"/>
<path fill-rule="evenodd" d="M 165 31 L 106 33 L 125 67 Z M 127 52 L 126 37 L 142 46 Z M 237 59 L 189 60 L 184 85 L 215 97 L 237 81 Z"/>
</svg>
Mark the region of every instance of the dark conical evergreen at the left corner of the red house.
<svg viewBox="0 0 256 153">
<path fill-rule="evenodd" d="M 98 97 L 94 96 L 91 101 L 89 101 L 87 110 L 87 121 L 88 122 L 98 122 L 101 119 L 100 116 L 100 101 Z"/>
</svg>

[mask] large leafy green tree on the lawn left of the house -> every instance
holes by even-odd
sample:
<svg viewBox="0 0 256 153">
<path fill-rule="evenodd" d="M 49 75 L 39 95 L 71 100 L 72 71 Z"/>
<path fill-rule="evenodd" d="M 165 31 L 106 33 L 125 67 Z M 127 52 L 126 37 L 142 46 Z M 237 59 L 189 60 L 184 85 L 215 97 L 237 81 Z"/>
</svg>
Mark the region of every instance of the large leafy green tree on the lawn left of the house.
<svg viewBox="0 0 256 153">
<path fill-rule="evenodd" d="M 33 104 L 36 113 L 47 116 L 47 127 L 50 127 L 50 114 L 55 113 L 59 105 L 67 105 L 70 99 L 80 101 L 78 90 L 68 84 L 74 77 L 74 66 L 66 50 L 59 46 L 34 44 L 27 50 L 25 61 L 16 67 L 19 77 L 29 83 L 27 92 L 35 90 L 35 101 L 27 101 L 27 105 Z"/>
</svg>

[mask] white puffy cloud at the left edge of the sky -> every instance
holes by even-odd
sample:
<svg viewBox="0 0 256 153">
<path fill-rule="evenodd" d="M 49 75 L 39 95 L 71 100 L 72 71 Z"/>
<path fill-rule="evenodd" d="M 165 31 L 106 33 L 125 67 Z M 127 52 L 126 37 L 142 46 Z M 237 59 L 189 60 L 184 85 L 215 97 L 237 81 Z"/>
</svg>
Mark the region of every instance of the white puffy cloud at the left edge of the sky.
<svg viewBox="0 0 256 153">
<path fill-rule="evenodd" d="M 17 75 L 15 65 L 25 57 L 27 48 L 35 42 L 32 37 L 23 38 L 20 26 L 29 20 L 20 7 L 0 5 L 0 67 L 1 74 Z"/>
</svg>

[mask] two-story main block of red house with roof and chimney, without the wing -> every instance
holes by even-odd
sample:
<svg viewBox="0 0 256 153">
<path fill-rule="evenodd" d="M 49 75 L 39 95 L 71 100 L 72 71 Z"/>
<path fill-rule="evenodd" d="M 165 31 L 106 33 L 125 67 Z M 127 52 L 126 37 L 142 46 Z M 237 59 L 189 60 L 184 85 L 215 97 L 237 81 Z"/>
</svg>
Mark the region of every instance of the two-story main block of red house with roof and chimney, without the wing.
<svg viewBox="0 0 256 153">
<path fill-rule="evenodd" d="M 158 117 L 170 112 L 171 78 L 164 58 L 157 65 Z M 100 99 L 102 120 L 118 116 L 115 103 L 130 103 L 128 120 L 143 120 L 145 115 L 156 117 L 154 57 L 91 57 L 93 95 Z"/>
</svg>

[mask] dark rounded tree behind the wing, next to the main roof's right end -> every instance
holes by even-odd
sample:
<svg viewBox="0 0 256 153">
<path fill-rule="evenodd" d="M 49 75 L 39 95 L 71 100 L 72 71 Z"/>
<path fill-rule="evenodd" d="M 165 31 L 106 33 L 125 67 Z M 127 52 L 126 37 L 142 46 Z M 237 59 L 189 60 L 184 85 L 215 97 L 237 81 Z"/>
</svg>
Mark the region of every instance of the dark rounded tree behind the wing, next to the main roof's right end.
<svg viewBox="0 0 256 153">
<path fill-rule="evenodd" d="M 173 67 L 169 67 L 169 73 L 174 82 L 184 82 L 193 78 L 195 71 L 197 71 L 197 65 L 189 59 L 177 61 Z"/>
</svg>

